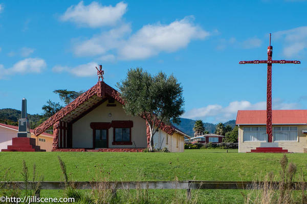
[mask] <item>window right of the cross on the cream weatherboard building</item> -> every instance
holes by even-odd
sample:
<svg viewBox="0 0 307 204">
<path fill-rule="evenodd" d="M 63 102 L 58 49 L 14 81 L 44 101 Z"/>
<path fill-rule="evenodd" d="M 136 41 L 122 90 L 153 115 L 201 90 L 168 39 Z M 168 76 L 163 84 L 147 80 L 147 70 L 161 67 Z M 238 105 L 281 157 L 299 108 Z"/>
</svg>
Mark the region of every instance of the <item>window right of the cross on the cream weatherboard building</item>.
<svg viewBox="0 0 307 204">
<path fill-rule="evenodd" d="M 297 141 L 297 127 L 273 127 L 274 141 Z"/>
</svg>

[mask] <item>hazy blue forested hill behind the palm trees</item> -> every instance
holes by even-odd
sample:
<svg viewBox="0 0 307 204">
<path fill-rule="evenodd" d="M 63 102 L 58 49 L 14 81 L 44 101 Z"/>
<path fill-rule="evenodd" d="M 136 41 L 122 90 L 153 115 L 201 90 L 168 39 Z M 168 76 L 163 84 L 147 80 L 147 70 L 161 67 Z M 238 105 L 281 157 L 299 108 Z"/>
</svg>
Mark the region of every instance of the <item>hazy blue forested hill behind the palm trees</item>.
<svg viewBox="0 0 307 204">
<path fill-rule="evenodd" d="M 188 134 L 189 136 L 193 136 L 193 126 L 196 120 L 188 119 L 188 118 L 180 118 L 180 124 L 173 124 L 178 127 L 181 131 Z M 215 125 L 213 123 L 204 122 L 204 126 L 209 133 L 215 132 Z M 224 123 L 224 125 L 230 125 L 232 128 L 235 126 L 235 120 L 229 120 Z"/>
</svg>

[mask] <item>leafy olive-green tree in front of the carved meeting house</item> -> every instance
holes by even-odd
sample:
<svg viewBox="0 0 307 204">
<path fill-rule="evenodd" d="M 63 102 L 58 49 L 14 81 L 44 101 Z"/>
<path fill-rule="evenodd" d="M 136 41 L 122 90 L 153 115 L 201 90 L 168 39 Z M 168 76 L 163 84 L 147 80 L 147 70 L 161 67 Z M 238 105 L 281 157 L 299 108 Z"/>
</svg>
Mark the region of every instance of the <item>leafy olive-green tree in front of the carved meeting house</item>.
<svg viewBox="0 0 307 204">
<path fill-rule="evenodd" d="M 129 69 L 127 78 L 117 83 L 120 95 L 125 101 L 127 114 L 146 119 L 150 132 L 149 150 L 153 150 L 153 135 L 161 123 L 179 122 L 184 113 L 182 87 L 171 74 L 163 72 L 151 75 L 142 68 Z"/>
</svg>

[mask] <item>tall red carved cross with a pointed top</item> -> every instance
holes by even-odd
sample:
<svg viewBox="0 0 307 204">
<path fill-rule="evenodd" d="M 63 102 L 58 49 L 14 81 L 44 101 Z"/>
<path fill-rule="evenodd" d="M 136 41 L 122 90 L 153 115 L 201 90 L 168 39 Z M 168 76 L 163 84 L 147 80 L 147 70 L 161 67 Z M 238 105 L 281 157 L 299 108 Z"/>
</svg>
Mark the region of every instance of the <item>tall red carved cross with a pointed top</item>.
<svg viewBox="0 0 307 204">
<path fill-rule="evenodd" d="M 264 63 L 268 64 L 268 73 L 267 73 L 267 134 L 268 142 L 273 142 L 272 134 L 272 64 L 300 64 L 298 60 L 272 60 L 273 46 L 271 46 L 271 33 L 270 33 L 270 45 L 268 46 L 268 60 L 254 60 L 254 61 L 240 61 L 239 64 L 259 64 Z"/>
</svg>

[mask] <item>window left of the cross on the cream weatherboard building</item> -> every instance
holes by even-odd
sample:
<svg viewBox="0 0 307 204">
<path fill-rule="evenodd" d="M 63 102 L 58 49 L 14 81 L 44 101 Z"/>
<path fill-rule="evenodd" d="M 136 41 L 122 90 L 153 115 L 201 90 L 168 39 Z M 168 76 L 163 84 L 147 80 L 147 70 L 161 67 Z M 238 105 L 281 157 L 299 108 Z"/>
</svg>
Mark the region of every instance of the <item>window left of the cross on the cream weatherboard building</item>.
<svg viewBox="0 0 307 204">
<path fill-rule="evenodd" d="M 267 141 L 266 127 L 243 127 L 243 141 Z"/>
</svg>

